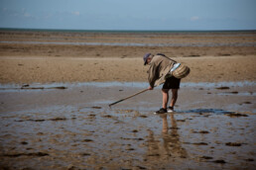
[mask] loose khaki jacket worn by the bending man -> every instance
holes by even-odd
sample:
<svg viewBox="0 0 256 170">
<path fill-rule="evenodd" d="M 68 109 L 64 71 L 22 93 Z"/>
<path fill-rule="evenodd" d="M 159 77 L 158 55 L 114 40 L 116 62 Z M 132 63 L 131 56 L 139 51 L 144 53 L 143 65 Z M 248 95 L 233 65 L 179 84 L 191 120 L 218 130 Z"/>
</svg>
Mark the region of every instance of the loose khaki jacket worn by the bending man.
<svg viewBox="0 0 256 170">
<path fill-rule="evenodd" d="M 166 81 L 166 75 L 175 63 L 175 60 L 170 60 L 167 56 L 154 55 L 148 70 L 150 86 L 156 87 L 163 84 Z"/>
</svg>

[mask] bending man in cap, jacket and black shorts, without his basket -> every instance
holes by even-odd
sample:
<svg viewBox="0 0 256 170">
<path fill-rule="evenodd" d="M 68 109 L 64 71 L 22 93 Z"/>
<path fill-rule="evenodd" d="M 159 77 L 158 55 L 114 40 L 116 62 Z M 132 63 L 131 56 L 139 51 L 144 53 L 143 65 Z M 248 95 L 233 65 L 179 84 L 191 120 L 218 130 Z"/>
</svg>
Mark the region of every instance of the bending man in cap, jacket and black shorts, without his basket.
<svg viewBox="0 0 256 170">
<path fill-rule="evenodd" d="M 159 86 L 164 83 L 162 88 L 163 105 L 162 108 L 156 112 L 156 114 L 172 113 L 178 99 L 178 89 L 180 88 L 181 79 L 170 75 L 170 70 L 177 62 L 162 53 L 153 55 L 146 53 L 143 57 L 144 65 L 150 65 L 149 73 L 149 90 L 153 90 L 155 86 Z M 169 91 L 172 90 L 172 99 L 170 106 L 167 107 L 169 102 Z"/>
</svg>

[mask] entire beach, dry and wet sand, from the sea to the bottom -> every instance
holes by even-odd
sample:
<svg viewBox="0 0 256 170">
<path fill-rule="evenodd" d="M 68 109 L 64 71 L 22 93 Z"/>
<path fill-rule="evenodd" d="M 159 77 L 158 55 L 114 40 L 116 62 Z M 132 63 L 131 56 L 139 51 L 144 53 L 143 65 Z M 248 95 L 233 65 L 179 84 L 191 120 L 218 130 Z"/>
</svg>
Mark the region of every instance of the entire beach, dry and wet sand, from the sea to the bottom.
<svg viewBox="0 0 256 170">
<path fill-rule="evenodd" d="M 256 34 L 0 31 L 0 169 L 254 169 Z M 146 52 L 191 67 L 154 115 Z"/>
</svg>

